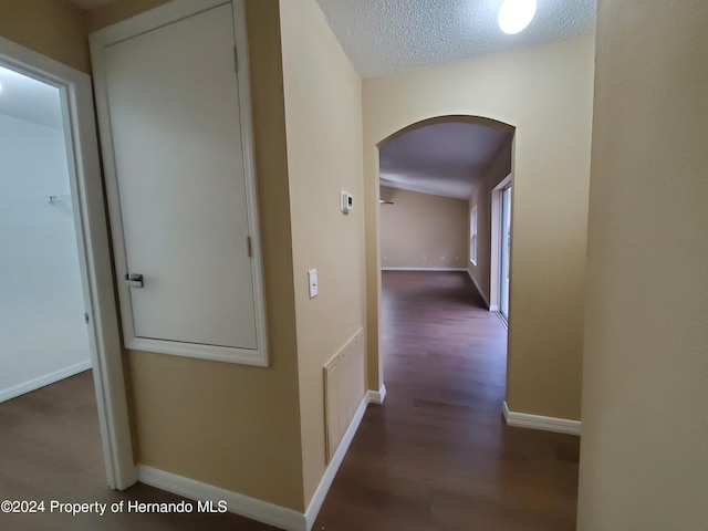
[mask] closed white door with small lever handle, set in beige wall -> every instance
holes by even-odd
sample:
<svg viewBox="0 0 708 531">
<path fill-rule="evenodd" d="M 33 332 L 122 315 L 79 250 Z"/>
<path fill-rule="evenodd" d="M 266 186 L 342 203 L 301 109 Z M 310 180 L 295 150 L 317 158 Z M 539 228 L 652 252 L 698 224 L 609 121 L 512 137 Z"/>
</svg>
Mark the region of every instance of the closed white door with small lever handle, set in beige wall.
<svg viewBox="0 0 708 531">
<path fill-rule="evenodd" d="M 238 358 L 259 348 L 259 301 L 233 8 L 150 23 L 94 50 L 126 344 Z"/>
</svg>

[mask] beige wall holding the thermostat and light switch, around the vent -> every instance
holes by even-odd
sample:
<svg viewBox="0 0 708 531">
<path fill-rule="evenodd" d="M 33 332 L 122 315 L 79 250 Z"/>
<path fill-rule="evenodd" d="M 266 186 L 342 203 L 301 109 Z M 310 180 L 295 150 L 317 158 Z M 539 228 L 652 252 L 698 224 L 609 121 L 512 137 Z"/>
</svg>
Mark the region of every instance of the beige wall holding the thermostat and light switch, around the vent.
<svg viewBox="0 0 708 531">
<path fill-rule="evenodd" d="M 364 325 L 362 83 L 314 0 L 282 1 L 280 13 L 309 501 L 325 469 L 323 366 Z M 341 190 L 354 197 L 348 215 Z"/>
</svg>

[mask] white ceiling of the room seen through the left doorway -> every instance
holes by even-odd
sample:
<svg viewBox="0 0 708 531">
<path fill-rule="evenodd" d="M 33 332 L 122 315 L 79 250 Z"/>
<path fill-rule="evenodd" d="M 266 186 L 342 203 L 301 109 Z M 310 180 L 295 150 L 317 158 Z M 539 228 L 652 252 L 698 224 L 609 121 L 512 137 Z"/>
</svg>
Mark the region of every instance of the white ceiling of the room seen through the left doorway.
<svg viewBox="0 0 708 531">
<path fill-rule="evenodd" d="M 59 88 L 0 66 L 0 114 L 62 128 Z"/>
</svg>

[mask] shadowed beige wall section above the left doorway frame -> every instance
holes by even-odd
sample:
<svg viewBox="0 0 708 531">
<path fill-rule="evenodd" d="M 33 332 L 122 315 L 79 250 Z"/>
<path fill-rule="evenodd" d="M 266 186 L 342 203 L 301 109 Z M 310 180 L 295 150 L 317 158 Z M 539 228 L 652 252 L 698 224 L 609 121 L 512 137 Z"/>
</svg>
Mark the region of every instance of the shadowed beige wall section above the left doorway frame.
<svg viewBox="0 0 708 531">
<path fill-rule="evenodd" d="M 0 0 L 0 35 L 91 72 L 86 13 L 69 0 Z"/>
</svg>

